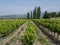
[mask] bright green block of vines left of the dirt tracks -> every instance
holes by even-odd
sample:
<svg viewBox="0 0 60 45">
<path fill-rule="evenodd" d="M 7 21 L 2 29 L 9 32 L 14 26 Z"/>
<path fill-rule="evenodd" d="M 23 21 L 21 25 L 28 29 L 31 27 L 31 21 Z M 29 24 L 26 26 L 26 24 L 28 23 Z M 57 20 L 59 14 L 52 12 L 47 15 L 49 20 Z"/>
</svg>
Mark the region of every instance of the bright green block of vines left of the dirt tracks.
<svg viewBox="0 0 60 45">
<path fill-rule="evenodd" d="M 0 20 L 0 38 L 13 32 L 24 22 L 25 20 Z"/>
</svg>

